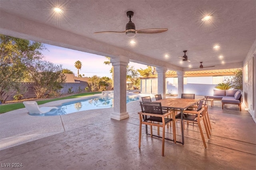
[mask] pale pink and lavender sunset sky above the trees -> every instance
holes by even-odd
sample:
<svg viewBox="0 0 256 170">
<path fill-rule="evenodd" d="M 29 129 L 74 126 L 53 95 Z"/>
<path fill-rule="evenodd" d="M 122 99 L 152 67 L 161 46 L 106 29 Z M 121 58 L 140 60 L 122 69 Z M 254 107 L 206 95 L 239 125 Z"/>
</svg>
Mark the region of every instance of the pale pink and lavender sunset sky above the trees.
<svg viewBox="0 0 256 170">
<path fill-rule="evenodd" d="M 67 68 L 74 72 L 75 76 L 77 76 L 77 69 L 74 66 L 76 61 L 81 61 L 82 68 L 79 70 L 79 74 L 87 77 L 91 77 L 93 75 L 97 75 L 100 77 L 107 76 L 111 78 L 111 65 L 105 65 L 104 61 L 107 59 L 104 56 L 85 53 L 81 51 L 76 51 L 72 49 L 66 49 L 62 47 L 57 47 L 53 45 L 44 44 L 44 46 L 49 50 L 43 51 L 46 61 L 50 61 L 51 63 L 62 65 L 62 68 Z M 135 69 L 143 68 L 145 69 L 147 66 L 138 63 L 129 63 L 129 66 L 134 66 Z"/>
</svg>

